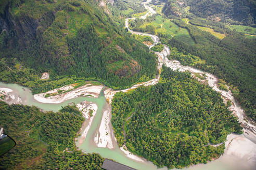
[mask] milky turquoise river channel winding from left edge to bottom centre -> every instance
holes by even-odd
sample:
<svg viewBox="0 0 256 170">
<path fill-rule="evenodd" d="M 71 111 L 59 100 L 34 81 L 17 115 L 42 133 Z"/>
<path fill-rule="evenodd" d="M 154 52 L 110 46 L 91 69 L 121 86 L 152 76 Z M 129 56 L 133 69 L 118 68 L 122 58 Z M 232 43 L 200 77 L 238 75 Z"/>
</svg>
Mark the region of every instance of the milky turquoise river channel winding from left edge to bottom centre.
<svg viewBox="0 0 256 170">
<path fill-rule="evenodd" d="M 126 155 L 119 149 L 116 142 L 113 143 L 114 149 L 99 148 L 95 145 L 94 136 L 97 129 L 99 128 L 101 118 L 103 116 L 103 110 L 107 104 L 103 91 L 100 92 L 100 95 L 98 98 L 76 97 L 59 104 L 50 104 L 50 103 L 40 103 L 34 100 L 31 90 L 27 87 L 22 87 L 18 84 L 0 82 L 0 88 L 9 88 L 12 90 L 12 92 L 8 94 L 14 95 L 15 100 L 9 103 L 15 103 L 17 101 L 18 96 L 20 96 L 21 104 L 29 105 L 29 106 L 37 106 L 44 111 L 49 111 L 49 110 L 58 111 L 59 109 L 61 109 L 61 106 L 66 106 L 70 103 L 78 104 L 83 101 L 96 103 L 98 106 L 98 109 L 94 117 L 94 120 L 92 122 L 92 125 L 87 133 L 87 136 L 82 145 L 78 145 L 78 143 L 76 143 L 79 149 L 81 149 L 83 152 L 86 152 L 86 153 L 93 153 L 93 152 L 99 153 L 104 158 L 113 159 L 122 164 L 132 166 L 137 169 L 149 169 L 149 170 L 157 169 L 157 167 L 153 165 L 151 162 L 136 162 L 130 158 L 127 158 Z"/>
</svg>

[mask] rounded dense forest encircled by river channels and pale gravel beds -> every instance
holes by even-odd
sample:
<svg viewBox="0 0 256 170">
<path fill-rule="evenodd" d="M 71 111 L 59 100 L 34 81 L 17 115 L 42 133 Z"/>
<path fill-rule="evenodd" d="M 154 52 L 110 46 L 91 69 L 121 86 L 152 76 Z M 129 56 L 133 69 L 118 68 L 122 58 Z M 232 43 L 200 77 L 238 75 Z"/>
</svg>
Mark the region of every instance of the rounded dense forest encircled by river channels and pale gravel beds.
<svg viewBox="0 0 256 170">
<path fill-rule="evenodd" d="M 187 72 L 163 66 L 161 77 L 155 86 L 114 95 L 111 122 L 119 146 L 126 144 L 131 152 L 169 168 L 219 157 L 224 144 L 208 144 L 242 133 L 220 94 Z"/>
</svg>

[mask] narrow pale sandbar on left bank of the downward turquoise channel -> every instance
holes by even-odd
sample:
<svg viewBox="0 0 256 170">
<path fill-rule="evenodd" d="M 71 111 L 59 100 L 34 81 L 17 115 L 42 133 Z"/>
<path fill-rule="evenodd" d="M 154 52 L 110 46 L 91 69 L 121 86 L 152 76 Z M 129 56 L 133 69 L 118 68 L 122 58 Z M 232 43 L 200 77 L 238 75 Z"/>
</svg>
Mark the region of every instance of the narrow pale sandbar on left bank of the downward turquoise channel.
<svg viewBox="0 0 256 170">
<path fill-rule="evenodd" d="M 93 119 L 94 119 L 97 109 L 98 109 L 98 106 L 95 103 L 84 101 L 84 102 L 77 104 L 76 107 L 78 107 L 78 109 L 82 112 L 85 119 L 88 120 L 87 126 L 85 127 L 85 129 L 82 132 L 82 135 L 78 141 L 79 144 L 82 144 L 84 142 L 84 139 L 86 138 L 86 135 L 87 135 L 91 125 L 92 125 Z M 93 110 L 91 117 L 89 116 L 89 110 Z"/>
</svg>

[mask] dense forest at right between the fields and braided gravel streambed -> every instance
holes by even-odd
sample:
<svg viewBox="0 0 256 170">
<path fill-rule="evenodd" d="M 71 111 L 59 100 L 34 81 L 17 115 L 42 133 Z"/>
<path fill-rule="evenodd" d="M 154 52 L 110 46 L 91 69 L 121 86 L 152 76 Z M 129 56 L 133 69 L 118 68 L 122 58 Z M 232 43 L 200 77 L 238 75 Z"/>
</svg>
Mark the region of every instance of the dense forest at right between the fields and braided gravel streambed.
<svg viewBox="0 0 256 170">
<path fill-rule="evenodd" d="M 194 66 L 232 84 L 234 90 L 231 90 L 234 91 L 238 102 L 243 106 L 248 116 L 256 120 L 256 39 L 246 38 L 245 35 L 232 31 L 220 40 L 196 26 L 180 20 L 174 20 L 174 22 L 188 29 L 196 45 L 188 45 L 174 37 L 169 40 L 169 46 L 171 48 L 176 47 L 186 55 L 199 56 L 201 60 L 206 61 L 206 63 L 197 63 Z M 183 59 L 180 61 L 184 65 L 191 63 L 191 60 L 184 62 Z"/>
</svg>

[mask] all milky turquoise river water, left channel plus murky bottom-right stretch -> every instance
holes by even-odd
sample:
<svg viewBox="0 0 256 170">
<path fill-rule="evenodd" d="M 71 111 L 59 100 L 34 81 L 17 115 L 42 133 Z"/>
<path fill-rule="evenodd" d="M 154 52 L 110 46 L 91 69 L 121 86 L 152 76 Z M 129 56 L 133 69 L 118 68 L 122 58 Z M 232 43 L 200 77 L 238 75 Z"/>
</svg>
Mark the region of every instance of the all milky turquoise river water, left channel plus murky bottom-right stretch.
<svg viewBox="0 0 256 170">
<path fill-rule="evenodd" d="M 94 141 L 95 132 L 100 125 L 101 118 L 103 116 L 103 110 L 107 104 L 103 91 L 101 91 L 98 98 L 76 97 L 59 104 L 48 104 L 48 103 L 37 102 L 36 100 L 34 100 L 34 97 L 29 88 L 19 86 L 18 84 L 0 82 L 0 87 L 9 88 L 13 90 L 9 94 L 15 95 L 16 98 L 20 96 L 22 101 L 21 104 L 29 105 L 29 106 L 34 105 L 45 111 L 48 111 L 48 110 L 58 111 L 59 109 L 61 109 L 61 106 L 65 106 L 70 103 L 78 104 L 85 100 L 96 103 L 98 106 L 98 110 L 96 112 L 92 125 L 87 133 L 87 136 L 83 144 L 78 146 L 79 149 L 82 149 L 82 151 L 86 153 L 92 153 L 92 152 L 99 153 L 104 158 L 113 159 L 117 162 L 134 167 L 136 169 L 147 169 L 147 170 L 157 169 L 157 167 L 149 161 L 137 162 L 130 158 L 127 158 L 126 155 L 118 148 L 118 145 L 116 142 L 114 142 L 113 144 L 114 149 L 99 148 L 94 144 L 93 141 Z M 167 168 L 160 168 L 160 169 L 167 169 Z M 193 170 L 201 170 L 201 169 L 229 170 L 230 169 L 230 170 L 233 170 L 233 169 L 251 169 L 251 168 L 246 167 L 246 165 L 242 163 L 240 160 L 222 156 L 221 158 L 215 161 L 209 162 L 207 164 L 198 164 L 198 165 L 194 165 L 184 169 L 191 169 L 191 170 L 192 169 Z"/>
</svg>

